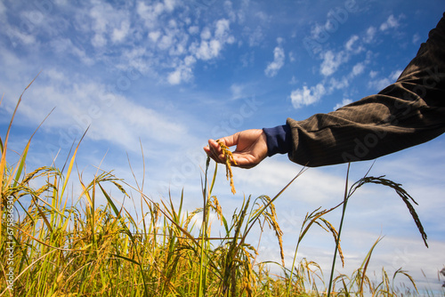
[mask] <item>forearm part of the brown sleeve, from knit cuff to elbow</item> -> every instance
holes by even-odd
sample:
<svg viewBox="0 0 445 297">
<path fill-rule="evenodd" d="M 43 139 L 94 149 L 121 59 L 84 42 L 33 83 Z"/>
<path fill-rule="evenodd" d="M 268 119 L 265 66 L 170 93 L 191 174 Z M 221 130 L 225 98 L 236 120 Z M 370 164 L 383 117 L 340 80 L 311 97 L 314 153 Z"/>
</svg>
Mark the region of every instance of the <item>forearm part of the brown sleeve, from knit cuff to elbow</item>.
<svg viewBox="0 0 445 297">
<path fill-rule="evenodd" d="M 374 95 L 326 115 L 287 119 L 292 134 L 288 155 L 308 166 L 374 159 L 432 140 L 445 132 L 444 121 L 443 107 Z"/>
</svg>

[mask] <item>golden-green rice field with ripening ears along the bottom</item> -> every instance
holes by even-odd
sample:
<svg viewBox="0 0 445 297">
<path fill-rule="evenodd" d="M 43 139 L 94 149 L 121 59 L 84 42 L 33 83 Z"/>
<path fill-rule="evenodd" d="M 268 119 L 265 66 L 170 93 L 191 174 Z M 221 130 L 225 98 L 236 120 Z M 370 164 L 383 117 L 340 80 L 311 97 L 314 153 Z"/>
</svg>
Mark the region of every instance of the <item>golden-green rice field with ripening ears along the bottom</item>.
<svg viewBox="0 0 445 297">
<path fill-rule="evenodd" d="M 19 105 L 20 100 L 17 108 Z M 218 166 L 209 172 L 207 160 L 202 205 L 190 211 L 182 207 L 187 199 L 183 195 L 157 202 L 138 185 L 111 172 L 98 172 L 92 180 L 85 181 L 75 165 L 82 140 L 61 169 L 52 165 L 34 169 L 26 166 L 32 136 L 18 161 L 9 164 L 9 132 L 8 129 L 6 135 L 1 135 L 0 141 L 0 296 L 418 295 L 409 272 L 401 269 L 393 275 L 383 269 L 381 280 L 370 280 L 368 263 L 378 240 L 351 276 L 334 274 L 336 254 L 343 259 L 343 223 L 335 227 L 324 215 L 337 208 L 343 208 L 344 214 L 348 199 L 366 183 L 395 190 L 408 206 L 426 245 L 412 198 L 401 185 L 384 177 L 365 176 L 352 185 L 346 184 L 341 204 L 307 213 L 300 235 L 295 238 L 294 262 L 291 266 L 275 263 L 281 267 L 281 273 L 276 274 L 271 273 L 269 263 L 256 261 L 258 242 L 247 242 L 247 235 L 252 229 L 263 232 L 263 227 L 269 227 L 283 257 L 284 235 L 273 202 L 288 185 L 275 197 L 245 197 L 239 208 L 228 215 L 214 194 L 214 184 L 219 182 Z M 233 181 L 230 162 L 225 170 L 234 191 L 236 180 Z M 300 174 L 303 171 L 295 179 Z M 73 184 L 82 189 L 80 194 L 73 193 Z M 128 189 L 137 195 L 130 195 Z M 105 205 L 97 203 L 102 199 Z M 132 201 L 135 209 L 122 206 L 124 200 Z M 180 203 L 175 205 L 173 201 Z M 217 221 L 210 222 L 211 214 Z M 212 224 L 220 225 L 222 237 L 211 237 Z M 332 271 L 321 271 L 310 260 L 296 261 L 303 237 L 315 225 L 326 229 L 336 242 Z M 328 282 L 323 280 L 323 273 L 330 273 Z M 401 280 L 415 289 L 407 292 L 394 285 Z"/>
</svg>

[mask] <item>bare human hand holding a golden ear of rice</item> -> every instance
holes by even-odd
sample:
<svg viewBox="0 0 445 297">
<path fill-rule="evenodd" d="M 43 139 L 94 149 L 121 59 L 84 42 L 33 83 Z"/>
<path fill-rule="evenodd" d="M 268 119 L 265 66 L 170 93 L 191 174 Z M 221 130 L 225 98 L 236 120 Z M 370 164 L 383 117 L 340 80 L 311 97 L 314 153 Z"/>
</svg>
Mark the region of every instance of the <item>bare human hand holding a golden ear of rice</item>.
<svg viewBox="0 0 445 297">
<path fill-rule="evenodd" d="M 237 146 L 232 152 L 233 159 L 241 168 L 252 168 L 267 157 L 267 140 L 262 129 L 237 132 L 219 139 L 227 147 Z M 204 151 L 217 163 L 225 163 L 223 149 L 215 140 L 208 140 Z M 233 164 L 235 165 L 235 164 Z"/>
</svg>

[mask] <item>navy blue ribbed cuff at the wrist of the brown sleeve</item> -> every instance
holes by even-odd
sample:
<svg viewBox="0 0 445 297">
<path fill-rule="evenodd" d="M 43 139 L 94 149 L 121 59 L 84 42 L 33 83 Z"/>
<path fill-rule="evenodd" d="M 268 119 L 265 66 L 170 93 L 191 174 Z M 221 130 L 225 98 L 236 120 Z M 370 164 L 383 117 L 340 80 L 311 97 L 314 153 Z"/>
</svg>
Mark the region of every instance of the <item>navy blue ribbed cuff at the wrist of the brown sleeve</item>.
<svg viewBox="0 0 445 297">
<path fill-rule="evenodd" d="M 287 124 L 263 128 L 267 139 L 267 156 L 287 154 L 292 150 L 292 133 Z"/>
</svg>

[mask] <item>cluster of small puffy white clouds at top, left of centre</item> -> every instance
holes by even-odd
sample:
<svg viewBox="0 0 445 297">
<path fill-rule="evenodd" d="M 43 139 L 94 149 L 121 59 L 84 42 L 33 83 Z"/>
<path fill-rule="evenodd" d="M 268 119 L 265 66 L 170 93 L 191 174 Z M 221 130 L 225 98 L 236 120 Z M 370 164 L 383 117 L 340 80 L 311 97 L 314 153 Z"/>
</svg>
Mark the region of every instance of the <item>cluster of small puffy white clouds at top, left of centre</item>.
<svg viewBox="0 0 445 297">
<path fill-rule="evenodd" d="M 190 26 L 190 18 L 172 15 L 178 5 L 179 2 L 168 0 L 155 4 L 138 3 L 134 11 L 137 20 L 132 24 L 128 10 L 124 13 L 109 4 L 95 4 L 92 12 L 84 17 L 85 20 L 79 21 L 81 25 L 90 21 L 93 28 L 91 43 L 96 50 L 85 57 L 105 60 L 117 68 L 132 65 L 142 73 L 160 77 L 169 84 L 190 82 L 196 60 L 207 61 L 219 57 L 226 44 L 235 42 L 235 37 L 231 35 L 230 20 L 225 18 L 208 23 L 202 29 L 198 25 Z M 182 13 L 188 12 L 185 10 Z M 81 28 L 88 32 L 88 26 Z M 124 41 L 141 44 L 145 50 L 110 47 L 111 42 L 116 46 Z M 103 54 L 106 46 L 109 52 L 122 52 L 122 59 L 117 63 L 111 61 L 115 58 Z M 185 62 L 189 56 L 194 57 L 192 63 Z"/>
</svg>

